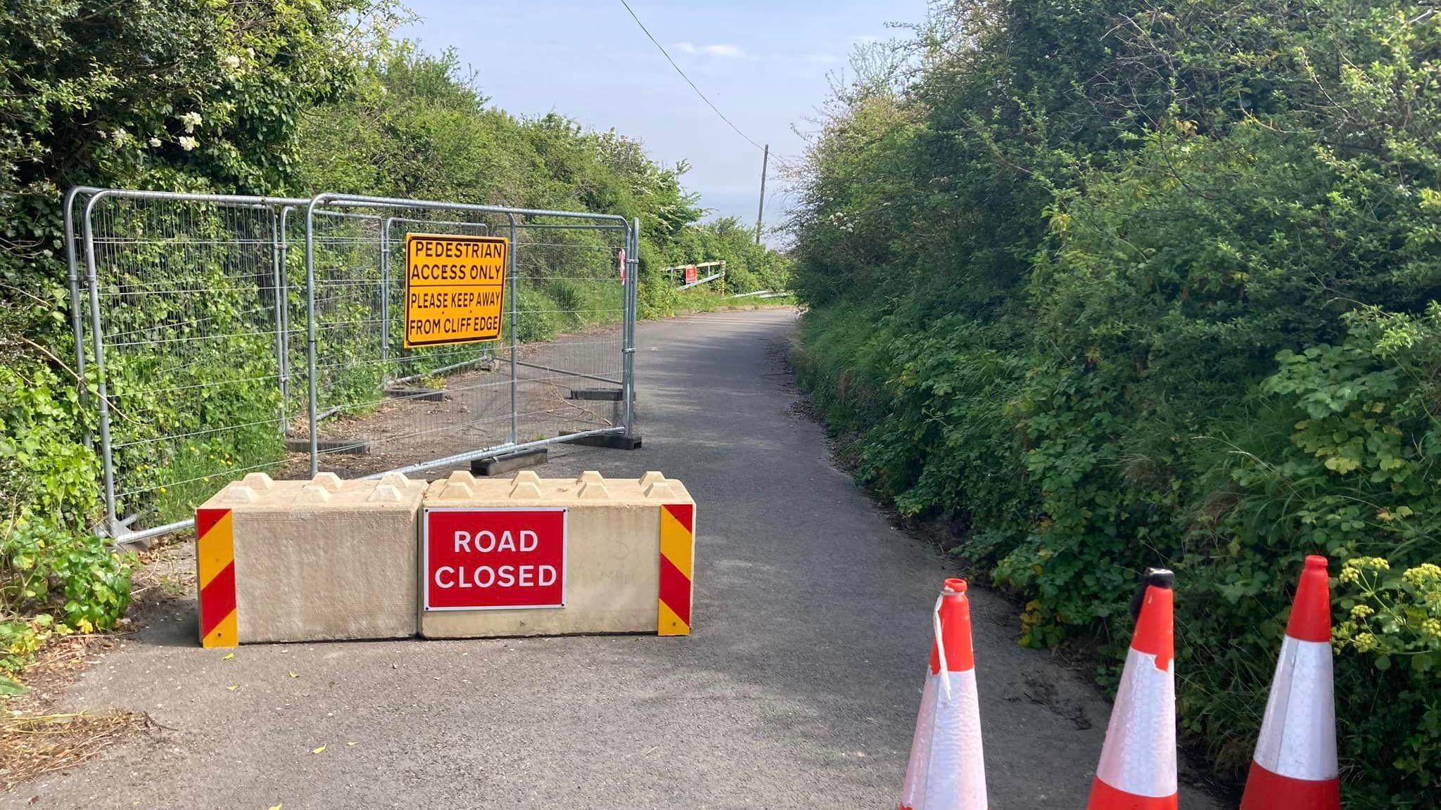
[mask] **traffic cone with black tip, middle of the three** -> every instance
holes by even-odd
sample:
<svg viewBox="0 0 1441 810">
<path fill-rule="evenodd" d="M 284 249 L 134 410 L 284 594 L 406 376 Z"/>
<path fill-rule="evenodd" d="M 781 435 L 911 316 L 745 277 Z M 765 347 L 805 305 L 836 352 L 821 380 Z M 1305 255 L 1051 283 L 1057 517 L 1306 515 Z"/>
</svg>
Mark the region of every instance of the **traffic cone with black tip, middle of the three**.
<svg viewBox="0 0 1441 810">
<path fill-rule="evenodd" d="M 1136 634 L 1105 728 L 1088 810 L 1176 810 L 1176 666 L 1172 582 L 1146 571 L 1136 595 Z"/>
</svg>

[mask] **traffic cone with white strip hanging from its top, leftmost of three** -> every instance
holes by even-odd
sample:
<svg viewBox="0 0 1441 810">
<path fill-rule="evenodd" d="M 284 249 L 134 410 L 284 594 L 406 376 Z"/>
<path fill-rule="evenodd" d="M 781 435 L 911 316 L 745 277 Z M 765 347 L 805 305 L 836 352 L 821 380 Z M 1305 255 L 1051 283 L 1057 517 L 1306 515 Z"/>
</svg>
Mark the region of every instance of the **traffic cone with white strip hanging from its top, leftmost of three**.
<svg viewBox="0 0 1441 810">
<path fill-rule="evenodd" d="M 947 579 L 931 617 L 931 670 L 921 692 L 901 810 L 986 810 L 981 709 L 965 579 Z"/>
</svg>

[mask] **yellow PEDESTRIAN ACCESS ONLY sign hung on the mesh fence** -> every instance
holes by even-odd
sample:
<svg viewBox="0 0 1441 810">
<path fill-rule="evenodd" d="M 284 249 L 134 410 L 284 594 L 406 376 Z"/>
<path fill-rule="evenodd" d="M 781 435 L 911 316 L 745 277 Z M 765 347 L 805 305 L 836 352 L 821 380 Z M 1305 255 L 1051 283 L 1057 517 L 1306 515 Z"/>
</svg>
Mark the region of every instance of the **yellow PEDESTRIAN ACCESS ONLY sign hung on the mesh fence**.
<svg viewBox="0 0 1441 810">
<path fill-rule="evenodd" d="M 500 339 L 504 236 L 405 235 L 405 346 Z"/>
</svg>

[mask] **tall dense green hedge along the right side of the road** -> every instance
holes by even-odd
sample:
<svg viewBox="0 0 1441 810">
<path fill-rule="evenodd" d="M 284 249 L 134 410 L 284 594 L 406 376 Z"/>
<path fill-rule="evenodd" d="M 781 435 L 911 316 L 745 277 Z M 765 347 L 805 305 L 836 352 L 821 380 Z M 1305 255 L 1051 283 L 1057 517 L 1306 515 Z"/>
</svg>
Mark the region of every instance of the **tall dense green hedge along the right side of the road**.
<svg viewBox="0 0 1441 810">
<path fill-rule="evenodd" d="M 1326 553 L 1347 806 L 1441 806 L 1441 16 L 934 12 L 857 59 L 793 229 L 798 376 L 859 477 L 1023 644 L 1118 662 L 1174 568 L 1182 724 L 1238 778 Z"/>
</svg>

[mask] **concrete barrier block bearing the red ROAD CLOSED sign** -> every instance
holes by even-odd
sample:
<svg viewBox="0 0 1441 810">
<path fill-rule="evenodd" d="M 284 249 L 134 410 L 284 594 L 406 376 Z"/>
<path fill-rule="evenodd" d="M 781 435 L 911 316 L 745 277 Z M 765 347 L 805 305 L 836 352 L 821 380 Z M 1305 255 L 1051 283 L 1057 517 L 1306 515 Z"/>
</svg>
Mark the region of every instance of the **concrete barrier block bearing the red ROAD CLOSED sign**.
<svg viewBox="0 0 1441 810">
<path fill-rule="evenodd" d="M 690 630 L 695 502 L 677 480 L 457 473 L 421 513 L 421 636 Z"/>
</svg>

